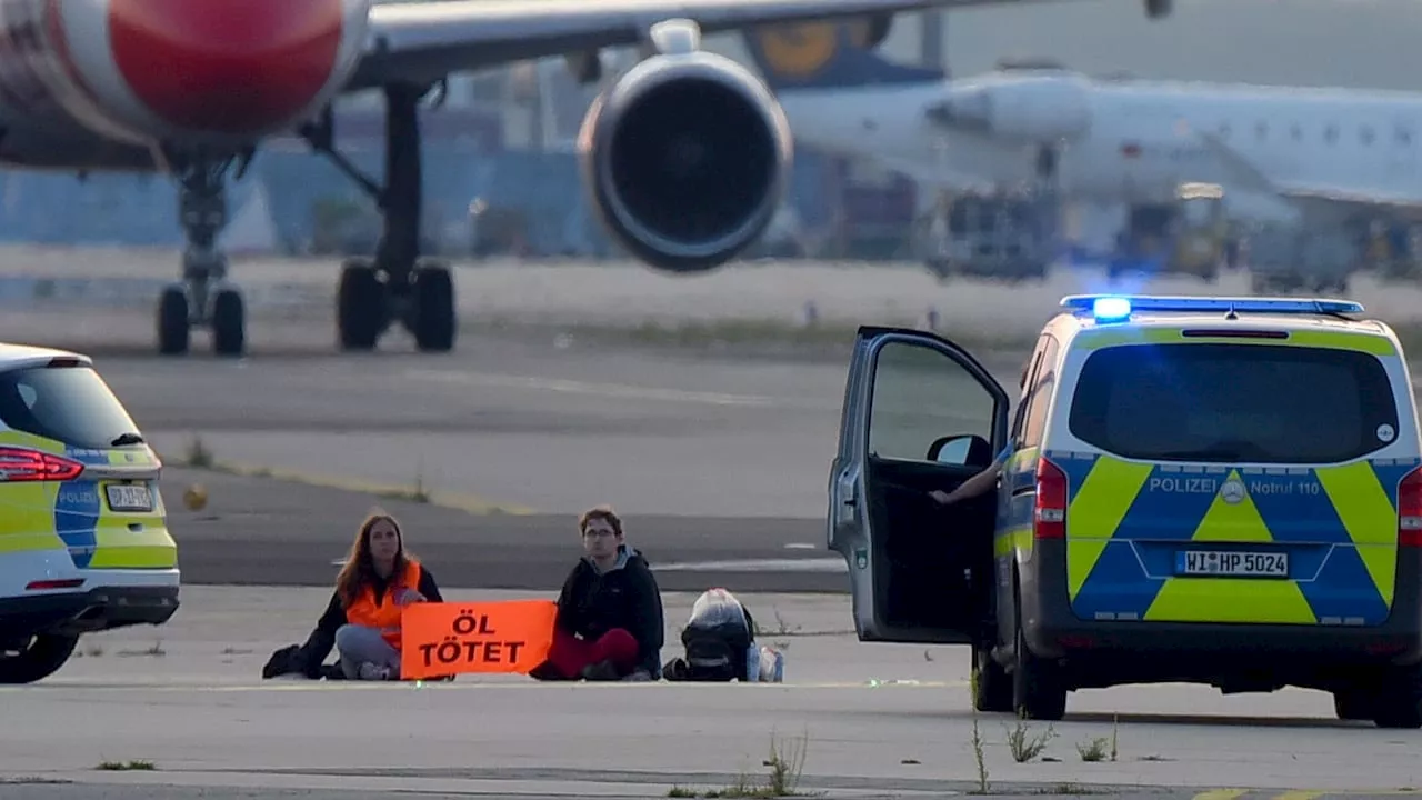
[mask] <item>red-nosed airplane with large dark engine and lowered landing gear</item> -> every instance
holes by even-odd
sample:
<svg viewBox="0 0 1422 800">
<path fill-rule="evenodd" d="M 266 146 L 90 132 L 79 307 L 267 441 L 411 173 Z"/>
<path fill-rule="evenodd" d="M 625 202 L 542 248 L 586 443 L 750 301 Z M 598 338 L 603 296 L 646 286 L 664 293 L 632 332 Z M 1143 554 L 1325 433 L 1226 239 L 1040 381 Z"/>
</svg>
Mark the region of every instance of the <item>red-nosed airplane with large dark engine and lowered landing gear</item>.
<svg viewBox="0 0 1422 800">
<path fill-rule="evenodd" d="M 603 48 L 640 46 L 583 121 L 584 185 L 624 249 L 694 273 L 755 241 L 791 152 L 764 84 L 701 51 L 701 33 L 845 16 L 886 28 L 900 11 L 1008 1 L 1030 0 L 0 0 L 0 164 L 173 177 L 188 246 L 158 303 L 158 350 L 186 353 L 208 327 L 235 356 L 246 310 L 216 246 L 225 179 L 296 131 L 384 216 L 374 258 L 341 269 L 341 349 L 371 350 L 400 322 L 419 350 L 447 352 L 454 282 L 419 258 L 418 108 L 451 73 L 563 56 L 590 83 Z M 333 147 L 331 102 L 363 90 L 385 100 L 381 182 Z"/>
</svg>

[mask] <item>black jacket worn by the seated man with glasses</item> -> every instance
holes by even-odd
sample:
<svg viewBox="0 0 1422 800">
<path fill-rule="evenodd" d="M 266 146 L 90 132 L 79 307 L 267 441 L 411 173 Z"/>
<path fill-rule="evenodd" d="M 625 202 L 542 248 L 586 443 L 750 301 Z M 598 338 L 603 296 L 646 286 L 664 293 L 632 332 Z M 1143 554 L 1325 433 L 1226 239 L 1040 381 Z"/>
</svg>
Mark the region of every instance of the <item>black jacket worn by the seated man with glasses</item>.
<svg viewBox="0 0 1422 800">
<path fill-rule="evenodd" d="M 577 561 L 557 596 L 555 625 L 584 639 L 623 628 L 640 645 L 637 666 L 653 678 L 661 676 L 665 638 L 661 589 L 646 557 L 627 545 L 621 547 L 617 565 L 604 574 L 599 574 L 587 558 Z"/>
</svg>

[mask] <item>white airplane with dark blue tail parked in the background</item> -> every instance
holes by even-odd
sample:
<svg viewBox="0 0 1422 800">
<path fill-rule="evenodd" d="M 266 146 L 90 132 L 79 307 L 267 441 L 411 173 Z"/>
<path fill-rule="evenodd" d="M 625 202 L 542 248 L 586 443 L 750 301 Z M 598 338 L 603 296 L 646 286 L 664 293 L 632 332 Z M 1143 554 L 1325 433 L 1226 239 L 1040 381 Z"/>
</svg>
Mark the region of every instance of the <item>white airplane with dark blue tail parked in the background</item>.
<svg viewBox="0 0 1422 800">
<path fill-rule="evenodd" d="M 1064 199 L 1158 205 L 1209 182 L 1236 214 L 1300 235 L 1422 209 L 1422 93 L 1092 78 L 1054 65 L 950 78 L 870 51 L 859 23 L 798 27 L 793 40 L 784 28 L 742 34 L 796 140 L 921 184 L 1045 181 Z"/>
</svg>

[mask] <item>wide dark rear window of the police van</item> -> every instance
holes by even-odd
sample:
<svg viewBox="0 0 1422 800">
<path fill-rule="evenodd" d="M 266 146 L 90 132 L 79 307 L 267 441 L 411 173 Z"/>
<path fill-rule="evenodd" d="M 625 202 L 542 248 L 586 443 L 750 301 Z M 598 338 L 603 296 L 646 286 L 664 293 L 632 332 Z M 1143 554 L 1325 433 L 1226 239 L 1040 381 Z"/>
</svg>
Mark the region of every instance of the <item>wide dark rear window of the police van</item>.
<svg viewBox="0 0 1422 800">
<path fill-rule="evenodd" d="M 1398 409 L 1368 353 L 1133 344 L 1086 359 L 1068 424 L 1125 458 L 1315 464 L 1391 444 Z"/>
</svg>

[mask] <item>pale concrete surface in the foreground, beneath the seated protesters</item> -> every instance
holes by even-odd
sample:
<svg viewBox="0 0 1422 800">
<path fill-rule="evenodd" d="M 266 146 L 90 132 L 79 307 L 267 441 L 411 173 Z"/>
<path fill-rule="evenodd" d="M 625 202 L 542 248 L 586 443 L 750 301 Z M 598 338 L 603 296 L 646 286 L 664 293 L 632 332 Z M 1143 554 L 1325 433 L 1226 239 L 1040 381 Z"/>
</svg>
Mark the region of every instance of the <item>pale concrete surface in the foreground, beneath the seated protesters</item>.
<svg viewBox="0 0 1422 800">
<path fill-rule="evenodd" d="M 845 596 L 741 596 L 772 628 L 762 638 L 785 649 L 786 683 L 262 682 L 266 656 L 306 635 L 326 591 L 189 586 L 165 629 L 90 636 L 81 658 L 50 680 L 0 689 L 0 776 L 210 787 L 208 796 L 219 797 L 252 796 L 216 791 L 223 786 L 664 797 L 673 786 L 722 789 L 742 773 L 766 780 L 761 762 L 774 742 L 786 759 L 802 749 L 805 791 L 943 796 L 977 787 L 964 648 L 859 643 L 845 632 Z M 693 599 L 667 594 L 670 641 Z M 1022 723 L 1030 739 L 1054 733 L 1027 763 L 1007 743 L 1015 720 L 983 715 L 977 726 L 994 793 L 1031 784 L 1017 791 L 1103 786 L 1143 796 L 1132 787 L 1173 786 L 1176 797 L 1344 796 L 1418 784 L 1416 732 L 1341 723 L 1331 712 L 1327 695 L 1300 690 L 1081 692 L 1064 722 Z M 1109 753 L 1112 737 L 1116 760 L 1081 757 L 1078 746 L 1098 739 Z M 98 770 L 104 762 L 154 769 Z M 14 797 L 11 789 L 0 793 Z M 27 789 L 30 797 L 81 790 L 98 796 L 80 784 Z"/>
</svg>

